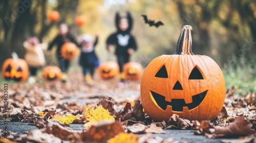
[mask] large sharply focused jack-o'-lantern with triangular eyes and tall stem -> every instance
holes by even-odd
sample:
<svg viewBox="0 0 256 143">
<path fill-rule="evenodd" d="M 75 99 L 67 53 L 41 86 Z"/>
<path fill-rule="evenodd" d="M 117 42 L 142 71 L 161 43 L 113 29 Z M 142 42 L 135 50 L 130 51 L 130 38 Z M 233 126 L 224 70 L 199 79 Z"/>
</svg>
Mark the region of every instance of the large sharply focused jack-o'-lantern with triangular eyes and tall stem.
<svg viewBox="0 0 256 143">
<path fill-rule="evenodd" d="M 221 68 L 210 57 L 192 53 L 191 30 L 184 26 L 177 52 L 155 58 L 142 75 L 142 105 L 155 121 L 168 121 L 173 113 L 188 120 L 210 120 L 223 107 Z"/>
</svg>

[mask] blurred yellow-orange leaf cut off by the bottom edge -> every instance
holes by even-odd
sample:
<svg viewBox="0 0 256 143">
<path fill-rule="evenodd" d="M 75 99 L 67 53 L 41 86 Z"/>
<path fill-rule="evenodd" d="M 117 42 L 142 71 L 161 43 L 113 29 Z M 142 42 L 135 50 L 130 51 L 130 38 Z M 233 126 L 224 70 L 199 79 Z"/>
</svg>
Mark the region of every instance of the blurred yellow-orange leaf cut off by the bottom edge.
<svg viewBox="0 0 256 143">
<path fill-rule="evenodd" d="M 139 136 L 133 133 L 119 133 L 113 138 L 108 140 L 108 143 L 115 143 L 115 142 L 123 142 L 123 143 L 131 143 L 131 142 L 138 142 Z"/>
</svg>

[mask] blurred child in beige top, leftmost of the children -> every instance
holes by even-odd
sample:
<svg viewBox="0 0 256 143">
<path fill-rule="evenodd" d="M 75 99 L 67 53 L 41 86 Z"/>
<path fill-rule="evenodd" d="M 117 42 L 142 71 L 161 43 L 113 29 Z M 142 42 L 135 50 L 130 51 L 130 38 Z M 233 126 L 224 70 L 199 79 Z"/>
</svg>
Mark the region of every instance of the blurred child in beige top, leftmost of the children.
<svg viewBox="0 0 256 143">
<path fill-rule="evenodd" d="M 47 49 L 47 44 L 39 43 L 37 37 L 30 37 L 23 42 L 23 46 L 26 50 L 25 60 L 29 65 L 30 71 L 28 82 L 34 83 L 38 68 L 46 63 L 44 51 Z"/>
</svg>

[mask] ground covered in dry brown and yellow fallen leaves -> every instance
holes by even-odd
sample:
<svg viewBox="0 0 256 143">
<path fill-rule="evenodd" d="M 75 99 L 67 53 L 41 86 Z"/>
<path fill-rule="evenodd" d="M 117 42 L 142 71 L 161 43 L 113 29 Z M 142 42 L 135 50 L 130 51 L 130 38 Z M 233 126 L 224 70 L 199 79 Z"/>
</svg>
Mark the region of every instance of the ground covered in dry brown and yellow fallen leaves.
<svg viewBox="0 0 256 143">
<path fill-rule="evenodd" d="M 239 96 L 236 89 L 227 90 L 221 113 L 211 121 L 190 122 L 174 114 L 168 122 L 154 122 L 143 112 L 139 81 L 127 81 L 123 88 L 117 88 L 118 79 L 95 79 L 88 85 L 80 75 L 70 77 L 67 83 L 9 84 L 9 111 L 5 112 L 1 100 L 1 118 L 30 123 L 38 129 L 22 135 L 8 132 L 6 139 L 1 128 L 0 142 L 178 142 L 152 136 L 172 129 L 225 138 L 222 142 L 230 142 L 227 138 L 256 141 L 255 92 Z M 0 97 L 4 99 L 3 86 Z M 70 124 L 82 124 L 84 129 L 71 130 Z"/>
</svg>

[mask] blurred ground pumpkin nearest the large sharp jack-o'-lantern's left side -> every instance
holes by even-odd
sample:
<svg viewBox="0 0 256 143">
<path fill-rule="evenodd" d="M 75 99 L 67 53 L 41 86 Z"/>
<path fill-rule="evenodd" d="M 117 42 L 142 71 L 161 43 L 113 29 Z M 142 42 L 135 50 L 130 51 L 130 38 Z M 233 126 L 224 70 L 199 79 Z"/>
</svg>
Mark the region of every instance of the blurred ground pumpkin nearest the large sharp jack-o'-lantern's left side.
<svg viewBox="0 0 256 143">
<path fill-rule="evenodd" d="M 128 62 L 123 65 L 126 80 L 138 80 L 142 74 L 142 65 L 137 62 Z"/>
</svg>

